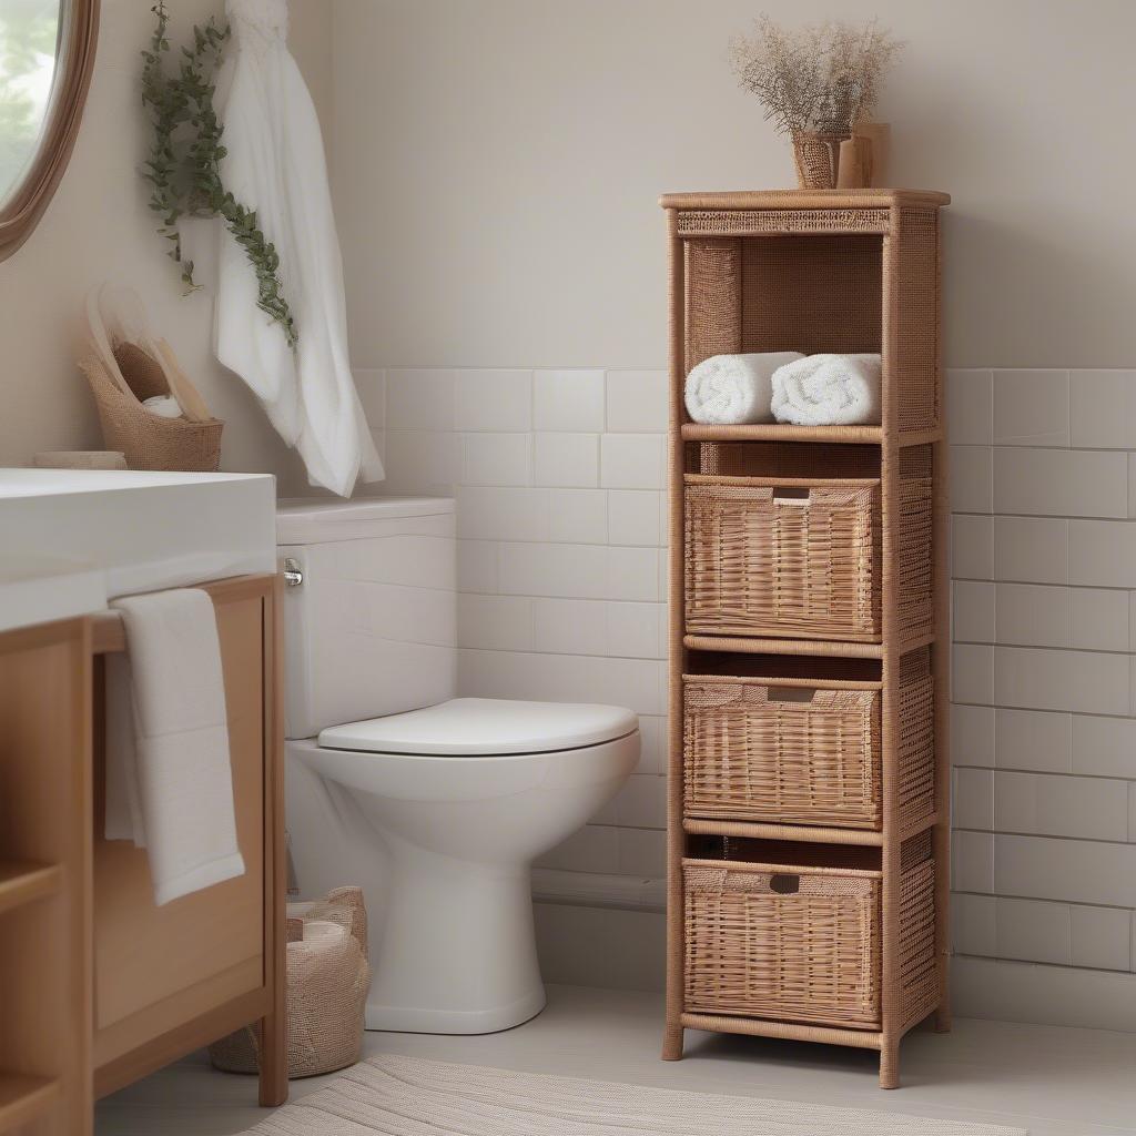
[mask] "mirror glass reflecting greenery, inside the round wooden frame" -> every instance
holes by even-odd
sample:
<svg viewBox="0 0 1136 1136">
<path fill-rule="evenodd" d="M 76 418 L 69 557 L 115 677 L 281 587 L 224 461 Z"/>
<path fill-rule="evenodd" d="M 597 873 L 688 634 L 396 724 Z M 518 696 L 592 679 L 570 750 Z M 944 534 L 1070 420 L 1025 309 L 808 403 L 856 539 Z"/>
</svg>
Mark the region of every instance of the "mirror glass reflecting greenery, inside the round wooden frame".
<svg viewBox="0 0 1136 1136">
<path fill-rule="evenodd" d="M 0 206 L 19 190 L 56 85 L 66 0 L 0 0 Z"/>
</svg>

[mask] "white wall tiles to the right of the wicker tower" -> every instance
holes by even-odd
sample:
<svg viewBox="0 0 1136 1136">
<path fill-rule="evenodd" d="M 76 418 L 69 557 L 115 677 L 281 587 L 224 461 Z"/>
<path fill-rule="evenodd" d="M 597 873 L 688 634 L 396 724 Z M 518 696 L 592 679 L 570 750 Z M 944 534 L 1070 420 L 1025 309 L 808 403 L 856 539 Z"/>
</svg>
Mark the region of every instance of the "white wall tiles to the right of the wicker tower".
<svg viewBox="0 0 1136 1136">
<path fill-rule="evenodd" d="M 951 370 L 946 393 L 954 950 L 1041 963 L 1000 1003 L 1028 1017 L 1051 968 L 1136 970 L 1136 371 Z"/>
</svg>

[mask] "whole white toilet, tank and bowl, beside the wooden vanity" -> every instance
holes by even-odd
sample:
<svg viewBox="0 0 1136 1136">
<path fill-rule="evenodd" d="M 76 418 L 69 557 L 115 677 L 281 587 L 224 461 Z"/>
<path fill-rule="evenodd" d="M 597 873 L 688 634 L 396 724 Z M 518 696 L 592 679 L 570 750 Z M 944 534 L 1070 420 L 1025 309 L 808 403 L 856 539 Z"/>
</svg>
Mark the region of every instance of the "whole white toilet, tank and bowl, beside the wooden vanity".
<svg viewBox="0 0 1136 1136">
<path fill-rule="evenodd" d="M 457 696 L 446 498 L 282 502 L 277 538 L 291 862 L 302 896 L 364 888 L 367 1028 L 527 1021 L 545 1000 L 532 862 L 624 784 L 636 716 Z"/>
</svg>

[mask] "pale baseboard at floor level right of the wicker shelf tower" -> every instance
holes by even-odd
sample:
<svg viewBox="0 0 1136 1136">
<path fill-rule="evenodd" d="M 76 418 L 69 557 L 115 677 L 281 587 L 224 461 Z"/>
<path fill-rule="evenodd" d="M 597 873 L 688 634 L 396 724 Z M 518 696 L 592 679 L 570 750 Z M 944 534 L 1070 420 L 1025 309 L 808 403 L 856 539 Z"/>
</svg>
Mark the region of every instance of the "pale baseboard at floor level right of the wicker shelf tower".
<svg viewBox="0 0 1136 1136">
<path fill-rule="evenodd" d="M 1136 1033 L 1136 975 L 955 955 L 952 1005 L 960 1018 Z"/>
</svg>

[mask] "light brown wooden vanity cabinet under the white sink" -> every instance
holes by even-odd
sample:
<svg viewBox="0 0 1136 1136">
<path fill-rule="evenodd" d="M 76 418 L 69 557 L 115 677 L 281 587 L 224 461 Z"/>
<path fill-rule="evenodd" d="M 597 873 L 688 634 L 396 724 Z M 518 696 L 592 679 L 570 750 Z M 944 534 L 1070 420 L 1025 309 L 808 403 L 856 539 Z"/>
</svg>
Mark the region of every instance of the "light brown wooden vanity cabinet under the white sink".
<svg viewBox="0 0 1136 1136">
<path fill-rule="evenodd" d="M 245 576 L 203 590 L 217 611 L 245 874 L 161 908 L 145 852 L 102 837 L 103 659 L 125 650 L 120 620 L 0 635 L 0 920 L 12 860 L 52 872 L 25 926 L 0 922 L 0 1134 L 14 1128 L 6 1093 L 18 1086 L 22 1097 L 41 1091 L 19 1124 L 89 1133 L 94 1099 L 244 1026 L 260 1035 L 260 1102 L 287 1095 L 279 584 Z M 25 819 L 9 828 L 10 816 Z M 28 1076 L 39 1079 L 18 1079 Z"/>
</svg>

